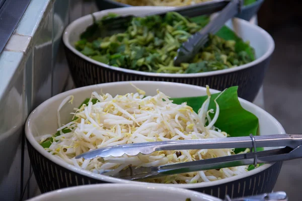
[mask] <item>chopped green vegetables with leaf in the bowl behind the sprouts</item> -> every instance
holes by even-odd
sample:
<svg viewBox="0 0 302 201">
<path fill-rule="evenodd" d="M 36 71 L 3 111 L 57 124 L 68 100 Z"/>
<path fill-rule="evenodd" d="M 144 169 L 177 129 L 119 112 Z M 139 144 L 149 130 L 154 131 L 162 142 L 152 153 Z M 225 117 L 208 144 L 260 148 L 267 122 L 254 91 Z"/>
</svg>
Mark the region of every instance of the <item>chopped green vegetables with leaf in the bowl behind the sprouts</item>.
<svg viewBox="0 0 302 201">
<path fill-rule="evenodd" d="M 109 14 L 104 18 L 114 17 L 116 14 Z M 188 19 L 178 13 L 169 12 L 164 17 L 132 18 L 125 25 L 127 30 L 124 33 L 101 37 L 100 33 L 105 25 L 100 20 L 81 35 L 75 48 L 82 54 L 111 66 L 158 73 L 221 70 L 255 59 L 254 49 L 232 30 L 223 27 L 216 35 L 210 35 L 205 47 L 191 62 L 174 66 L 174 57 L 181 44 L 208 22 L 207 16 Z"/>
</svg>

